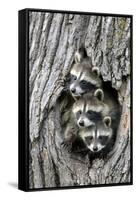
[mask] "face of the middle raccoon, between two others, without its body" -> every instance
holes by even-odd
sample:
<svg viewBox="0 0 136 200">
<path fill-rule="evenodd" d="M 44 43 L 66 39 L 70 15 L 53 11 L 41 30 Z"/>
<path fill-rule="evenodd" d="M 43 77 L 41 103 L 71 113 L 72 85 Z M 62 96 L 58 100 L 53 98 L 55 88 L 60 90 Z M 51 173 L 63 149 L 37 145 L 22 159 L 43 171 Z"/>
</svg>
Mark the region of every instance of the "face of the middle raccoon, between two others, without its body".
<svg viewBox="0 0 136 200">
<path fill-rule="evenodd" d="M 73 113 L 76 123 L 80 128 L 90 127 L 102 120 L 107 113 L 108 107 L 102 101 L 103 91 L 96 90 L 95 96 L 85 94 L 73 105 Z"/>
</svg>

